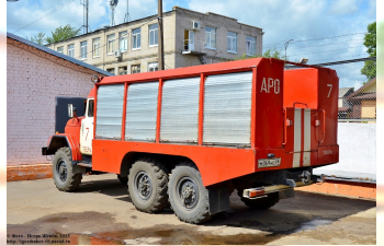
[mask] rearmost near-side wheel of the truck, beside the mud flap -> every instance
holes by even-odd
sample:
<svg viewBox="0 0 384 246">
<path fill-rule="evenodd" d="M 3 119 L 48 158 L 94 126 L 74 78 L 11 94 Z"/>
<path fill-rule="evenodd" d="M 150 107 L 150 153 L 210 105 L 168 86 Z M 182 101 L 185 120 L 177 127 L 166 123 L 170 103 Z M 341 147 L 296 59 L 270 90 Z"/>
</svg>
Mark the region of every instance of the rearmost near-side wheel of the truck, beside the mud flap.
<svg viewBox="0 0 384 246">
<path fill-rule="evenodd" d="M 211 219 L 208 190 L 193 164 L 184 162 L 172 169 L 168 195 L 180 221 L 200 224 Z"/>
</svg>

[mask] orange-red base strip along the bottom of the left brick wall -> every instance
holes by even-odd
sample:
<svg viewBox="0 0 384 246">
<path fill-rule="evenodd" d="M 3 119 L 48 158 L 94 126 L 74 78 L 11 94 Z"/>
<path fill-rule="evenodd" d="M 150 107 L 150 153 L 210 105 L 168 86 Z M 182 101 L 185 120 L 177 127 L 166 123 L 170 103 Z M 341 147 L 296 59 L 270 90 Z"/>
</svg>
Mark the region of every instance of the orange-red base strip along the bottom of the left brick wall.
<svg viewBox="0 0 384 246">
<path fill-rule="evenodd" d="M 7 166 L 7 181 L 52 178 L 52 164 Z"/>
</svg>

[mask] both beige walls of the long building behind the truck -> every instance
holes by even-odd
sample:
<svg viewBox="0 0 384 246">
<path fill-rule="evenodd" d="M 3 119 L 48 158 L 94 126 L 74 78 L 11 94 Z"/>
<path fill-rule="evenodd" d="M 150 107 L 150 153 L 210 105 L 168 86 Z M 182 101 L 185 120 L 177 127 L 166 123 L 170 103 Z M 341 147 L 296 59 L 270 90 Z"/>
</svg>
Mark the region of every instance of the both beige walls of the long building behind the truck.
<svg viewBox="0 0 384 246">
<path fill-rule="evenodd" d="M 190 67 L 201 65 L 201 61 L 195 55 L 181 55 L 184 40 L 184 31 L 192 31 L 192 21 L 201 23 L 201 30 L 194 31 L 195 34 L 195 50 L 205 52 L 207 63 L 221 62 L 227 59 L 241 57 L 246 52 L 246 37 L 256 37 L 256 54 L 262 52 L 262 34 L 261 28 L 239 23 L 236 19 L 223 16 L 215 13 L 200 13 L 196 11 L 187 10 L 179 7 L 173 7 L 172 11 L 163 13 L 163 39 L 165 39 L 165 63 L 166 69 Z M 68 55 L 68 45 L 75 44 L 75 58 L 82 60 L 89 65 L 95 66 L 103 70 L 114 69 L 117 74 L 118 68 L 127 67 L 127 73 L 131 73 L 132 66 L 140 65 L 140 71 L 148 71 L 148 63 L 158 61 L 158 47 L 149 47 L 149 30 L 150 24 L 157 23 L 156 15 L 132 21 L 129 23 L 120 24 L 113 27 L 102 28 L 92 33 L 80 35 L 67 40 L 58 42 L 48 47 L 57 50 L 63 47 L 63 52 Z M 205 48 L 205 25 L 216 30 L 216 49 Z M 132 49 L 132 31 L 140 27 L 140 48 Z M 118 34 L 127 31 L 128 33 L 128 50 L 122 52 L 121 58 L 115 58 L 114 55 L 108 54 L 106 36 L 114 34 L 114 49 L 118 49 Z M 237 54 L 227 51 L 227 32 L 238 34 Z M 92 55 L 92 40 L 100 38 L 100 57 Z M 87 40 L 87 59 L 81 59 L 80 43 Z"/>
</svg>

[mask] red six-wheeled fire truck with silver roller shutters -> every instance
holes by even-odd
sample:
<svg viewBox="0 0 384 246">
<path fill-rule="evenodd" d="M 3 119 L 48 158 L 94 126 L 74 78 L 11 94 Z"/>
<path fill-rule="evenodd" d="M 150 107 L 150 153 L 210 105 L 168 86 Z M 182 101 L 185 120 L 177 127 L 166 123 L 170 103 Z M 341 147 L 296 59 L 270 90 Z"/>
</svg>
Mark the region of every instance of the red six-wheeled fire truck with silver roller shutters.
<svg viewBox="0 0 384 246">
<path fill-rule="evenodd" d="M 56 187 L 78 189 L 88 171 L 115 173 L 138 210 L 171 207 L 189 223 L 228 210 L 234 189 L 253 209 L 293 197 L 324 180 L 313 168 L 338 162 L 339 79 L 284 67 L 255 58 L 93 77 L 86 115 L 42 150 L 55 155 Z"/>
</svg>

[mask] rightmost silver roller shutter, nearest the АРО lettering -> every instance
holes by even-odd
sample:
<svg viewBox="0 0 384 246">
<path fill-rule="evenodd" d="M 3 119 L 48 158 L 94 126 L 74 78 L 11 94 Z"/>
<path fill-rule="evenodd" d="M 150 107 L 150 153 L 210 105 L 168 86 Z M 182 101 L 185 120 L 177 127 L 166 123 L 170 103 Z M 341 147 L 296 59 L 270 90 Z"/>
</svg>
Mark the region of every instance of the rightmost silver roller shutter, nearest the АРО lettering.
<svg viewBox="0 0 384 246">
<path fill-rule="evenodd" d="M 252 72 L 210 75 L 204 91 L 204 143 L 250 144 Z"/>
</svg>

